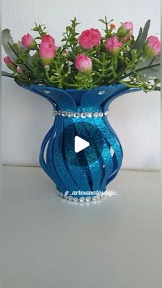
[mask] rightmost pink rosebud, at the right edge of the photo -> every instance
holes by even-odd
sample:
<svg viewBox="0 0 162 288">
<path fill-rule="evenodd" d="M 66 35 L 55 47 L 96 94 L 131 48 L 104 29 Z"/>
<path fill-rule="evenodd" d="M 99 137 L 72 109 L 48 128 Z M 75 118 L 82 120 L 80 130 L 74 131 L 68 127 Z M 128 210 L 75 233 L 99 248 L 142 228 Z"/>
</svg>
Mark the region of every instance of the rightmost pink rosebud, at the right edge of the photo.
<svg viewBox="0 0 162 288">
<path fill-rule="evenodd" d="M 148 58 L 158 55 L 161 51 L 161 43 L 157 36 L 149 36 L 143 45 L 143 50 Z"/>
</svg>

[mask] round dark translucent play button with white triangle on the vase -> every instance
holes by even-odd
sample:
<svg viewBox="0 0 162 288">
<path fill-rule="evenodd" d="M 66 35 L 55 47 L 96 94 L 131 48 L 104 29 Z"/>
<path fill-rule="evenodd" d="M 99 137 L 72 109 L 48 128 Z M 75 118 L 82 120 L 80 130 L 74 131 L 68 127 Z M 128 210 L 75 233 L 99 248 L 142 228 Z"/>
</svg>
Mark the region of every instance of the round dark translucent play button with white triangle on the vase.
<svg viewBox="0 0 162 288">
<path fill-rule="evenodd" d="M 88 121 L 69 124 L 62 131 L 62 157 L 68 165 L 89 166 L 93 162 L 102 163 L 104 137 L 97 125 Z"/>
</svg>

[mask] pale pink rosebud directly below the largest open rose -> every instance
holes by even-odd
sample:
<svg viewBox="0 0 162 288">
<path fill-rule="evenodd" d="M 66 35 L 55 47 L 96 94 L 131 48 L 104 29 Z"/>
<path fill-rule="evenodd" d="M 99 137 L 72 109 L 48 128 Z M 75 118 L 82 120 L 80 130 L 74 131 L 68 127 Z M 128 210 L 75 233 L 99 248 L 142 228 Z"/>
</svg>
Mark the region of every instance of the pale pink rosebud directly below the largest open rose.
<svg viewBox="0 0 162 288">
<path fill-rule="evenodd" d="M 82 72 L 89 72 L 92 69 L 91 59 L 84 54 L 78 54 L 76 56 L 75 64 L 76 64 L 76 69 Z"/>
</svg>

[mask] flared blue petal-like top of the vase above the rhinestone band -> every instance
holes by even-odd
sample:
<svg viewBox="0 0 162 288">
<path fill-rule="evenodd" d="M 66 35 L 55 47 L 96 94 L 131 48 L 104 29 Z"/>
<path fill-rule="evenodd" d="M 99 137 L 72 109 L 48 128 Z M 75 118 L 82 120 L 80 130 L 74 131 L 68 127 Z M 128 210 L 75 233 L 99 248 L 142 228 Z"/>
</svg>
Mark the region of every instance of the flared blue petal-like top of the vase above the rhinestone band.
<svg viewBox="0 0 162 288">
<path fill-rule="evenodd" d="M 31 85 L 24 87 L 47 99 L 53 107 L 65 111 L 98 111 L 108 110 L 109 104 L 117 97 L 139 89 L 130 89 L 123 84 L 113 86 L 96 87 L 89 90 L 58 89 L 55 87 L 44 87 Z"/>
</svg>

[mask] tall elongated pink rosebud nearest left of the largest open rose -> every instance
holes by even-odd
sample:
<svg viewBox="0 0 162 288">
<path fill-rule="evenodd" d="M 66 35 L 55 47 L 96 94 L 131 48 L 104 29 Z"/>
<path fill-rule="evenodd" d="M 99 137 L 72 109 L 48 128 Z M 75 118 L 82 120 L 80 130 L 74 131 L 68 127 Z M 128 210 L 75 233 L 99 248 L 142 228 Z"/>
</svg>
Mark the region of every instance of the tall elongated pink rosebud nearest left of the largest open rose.
<svg viewBox="0 0 162 288">
<path fill-rule="evenodd" d="M 39 49 L 40 58 L 42 60 L 42 63 L 45 67 L 49 67 L 51 63 L 54 60 L 55 56 L 55 49 L 54 45 L 51 45 L 50 43 L 43 42 L 40 44 Z"/>
</svg>

